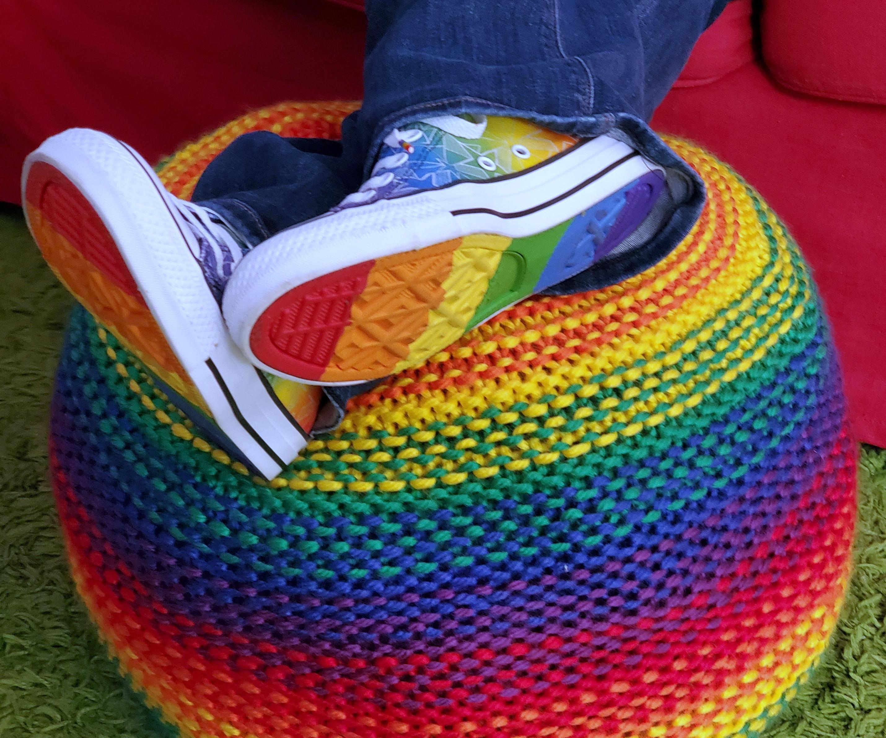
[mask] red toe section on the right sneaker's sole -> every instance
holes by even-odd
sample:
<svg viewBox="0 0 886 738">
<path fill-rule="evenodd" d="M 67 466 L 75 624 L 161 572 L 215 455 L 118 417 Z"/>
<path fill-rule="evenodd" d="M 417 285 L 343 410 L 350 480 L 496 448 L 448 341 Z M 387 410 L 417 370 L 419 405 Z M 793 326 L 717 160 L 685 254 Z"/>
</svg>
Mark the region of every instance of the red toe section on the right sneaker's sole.
<svg viewBox="0 0 886 738">
<path fill-rule="evenodd" d="M 319 381 L 374 264 L 364 261 L 319 276 L 277 298 L 250 333 L 255 357 L 293 377 Z"/>
</svg>

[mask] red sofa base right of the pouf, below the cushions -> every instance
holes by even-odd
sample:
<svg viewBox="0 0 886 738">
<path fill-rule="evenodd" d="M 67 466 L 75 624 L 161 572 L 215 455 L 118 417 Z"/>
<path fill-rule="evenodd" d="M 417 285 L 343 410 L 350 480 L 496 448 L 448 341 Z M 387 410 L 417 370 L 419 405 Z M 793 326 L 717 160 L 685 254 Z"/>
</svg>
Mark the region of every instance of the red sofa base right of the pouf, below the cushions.
<svg viewBox="0 0 886 738">
<path fill-rule="evenodd" d="M 705 36 L 720 30 L 718 21 Z M 699 48 L 711 42 L 705 36 Z M 886 447 L 886 257 L 878 248 L 886 107 L 792 92 L 747 64 L 712 84 L 672 89 L 652 125 L 728 161 L 787 223 L 834 327 L 856 438 Z"/>
</svg>

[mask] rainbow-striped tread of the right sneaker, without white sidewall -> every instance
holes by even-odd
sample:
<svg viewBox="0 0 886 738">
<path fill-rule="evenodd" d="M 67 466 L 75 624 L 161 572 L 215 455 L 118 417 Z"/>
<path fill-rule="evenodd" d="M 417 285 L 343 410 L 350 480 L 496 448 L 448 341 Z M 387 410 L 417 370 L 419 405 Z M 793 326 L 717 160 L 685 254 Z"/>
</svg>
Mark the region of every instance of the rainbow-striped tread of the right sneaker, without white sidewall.
<svg viewBox="0 0 886 738">
<path fill-rule="evenodd" d="M 414 367 L 607 256 L 663 186 L 662 175 L 649 173 L 535 236 L 473 234 L 317 277 L 265 309 L 250 348 L 268 367 L 308 382 L 353 384 Z"/>
</svg>

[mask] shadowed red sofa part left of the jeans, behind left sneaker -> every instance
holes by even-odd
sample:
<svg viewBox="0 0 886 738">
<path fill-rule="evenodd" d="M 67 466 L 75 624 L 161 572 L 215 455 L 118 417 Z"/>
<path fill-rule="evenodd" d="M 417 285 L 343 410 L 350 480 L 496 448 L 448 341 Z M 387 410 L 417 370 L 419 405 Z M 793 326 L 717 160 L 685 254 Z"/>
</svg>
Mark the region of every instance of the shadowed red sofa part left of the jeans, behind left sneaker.
<svg viewBox="0 0 886 738">
<path fill-rule="evenodd" d="M 326 0 L 0 0 L 0 201 L 65 128 L 156 160 L 249 108 L 357 99 L 365 28 Z"/>
</svg>

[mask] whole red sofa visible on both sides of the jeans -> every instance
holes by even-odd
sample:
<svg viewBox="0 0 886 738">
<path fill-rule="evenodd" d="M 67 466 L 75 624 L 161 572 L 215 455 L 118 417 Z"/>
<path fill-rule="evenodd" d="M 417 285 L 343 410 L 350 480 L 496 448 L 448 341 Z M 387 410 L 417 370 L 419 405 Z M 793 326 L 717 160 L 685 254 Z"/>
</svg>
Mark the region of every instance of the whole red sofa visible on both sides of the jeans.
<svg viewBox="0 0 886 738">
<path fill-rule="evenodd" d="M 861 5 L 864 5 L 862 8 Z M 102 128 L 149 159 L 245 109 L 358 98 L 361 0 L 0 0 L 0 200 L 27 151 Z M 815 269 L 859 439 L 886 446 L 886 4 L 736 0 L 653 125 L 726 159 Z M 15 70 L 14 74 L 11 70 Z"/>
</svg>

